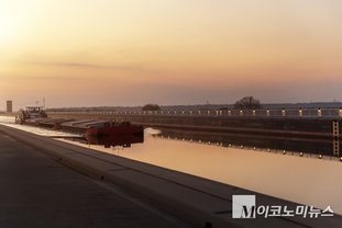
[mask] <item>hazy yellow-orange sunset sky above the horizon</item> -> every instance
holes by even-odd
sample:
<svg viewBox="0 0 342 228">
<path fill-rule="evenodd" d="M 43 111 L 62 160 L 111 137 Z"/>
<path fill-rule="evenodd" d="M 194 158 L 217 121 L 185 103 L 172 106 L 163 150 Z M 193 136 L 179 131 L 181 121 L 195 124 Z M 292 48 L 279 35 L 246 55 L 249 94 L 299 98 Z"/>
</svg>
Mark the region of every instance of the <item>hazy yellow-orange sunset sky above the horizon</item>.
<svg viewBox="0 0 342 228">
<path fill-rule="evenodd" d="M 0 110 L 342 101 L 341 0 L 0 0 Z"/>
</svg>

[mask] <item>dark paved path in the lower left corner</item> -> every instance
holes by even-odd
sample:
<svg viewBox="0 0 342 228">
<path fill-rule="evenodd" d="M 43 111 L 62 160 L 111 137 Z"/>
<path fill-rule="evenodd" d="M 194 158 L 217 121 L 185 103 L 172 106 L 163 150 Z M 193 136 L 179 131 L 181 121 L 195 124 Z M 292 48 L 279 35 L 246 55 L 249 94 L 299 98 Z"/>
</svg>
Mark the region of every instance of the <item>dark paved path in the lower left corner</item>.
<svg viewBox="0 0 342 228">
<path fill-rule="evenodd" d="M 178 227 L 115 192 L 0 133 L 0 227 Z"/>
</svg>

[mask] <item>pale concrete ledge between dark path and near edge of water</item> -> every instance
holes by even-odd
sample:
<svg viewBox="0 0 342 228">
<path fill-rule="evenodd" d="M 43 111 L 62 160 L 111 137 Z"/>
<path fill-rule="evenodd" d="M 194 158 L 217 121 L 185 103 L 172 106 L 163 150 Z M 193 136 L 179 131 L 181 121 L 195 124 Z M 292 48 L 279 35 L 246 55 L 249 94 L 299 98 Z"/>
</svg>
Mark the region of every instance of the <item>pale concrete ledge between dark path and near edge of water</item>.
<svg viewBox="0 0 342 228">
<path fill-rule="evenodd" d="M 338 215 L 316 219 L 304 219 L 297 216 L 233 219 L 232 195 L 256 195 L 258 205 L 295 207 L 297 204 L 2 125 L 0 125 L 0 130 L 60 162 L 119 185 L 200 227 L 326 228 L 342 226 L 342 218 Z"/>
</svg>

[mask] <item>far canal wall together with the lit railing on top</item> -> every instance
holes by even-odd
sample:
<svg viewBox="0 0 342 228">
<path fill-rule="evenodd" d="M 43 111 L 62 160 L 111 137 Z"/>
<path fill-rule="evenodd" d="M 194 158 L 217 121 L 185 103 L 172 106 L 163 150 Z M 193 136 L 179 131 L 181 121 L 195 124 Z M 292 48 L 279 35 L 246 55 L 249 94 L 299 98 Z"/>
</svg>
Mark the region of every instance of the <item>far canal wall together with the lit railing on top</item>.
<svg viewBox="0 0 342 228">
<path fill-rule="evenodd" d="M 131 122 L 153 127 L 338 139 L 341 109 L 48 112 L 53 118 Z"/>
</svg>

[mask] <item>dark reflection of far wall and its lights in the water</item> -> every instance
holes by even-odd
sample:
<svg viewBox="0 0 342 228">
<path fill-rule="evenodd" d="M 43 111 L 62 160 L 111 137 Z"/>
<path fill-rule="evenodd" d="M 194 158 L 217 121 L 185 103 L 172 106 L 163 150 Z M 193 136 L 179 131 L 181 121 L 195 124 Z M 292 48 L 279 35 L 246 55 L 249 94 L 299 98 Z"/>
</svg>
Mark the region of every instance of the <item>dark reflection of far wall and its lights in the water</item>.
<svg viewBox="0 0 342 228">
<path fill-rule="evenodd" d="M 342 142 L 339 141 L 339 139 L 333 138 L 294 138 L 255 134 L 216 134 L 206 132 L 174 130 L 168 128 L 159 129 L 162 134 L 156 135 L 155 137 L 163 139 L 341 161 L 340 148 Z"/>
</svg>

